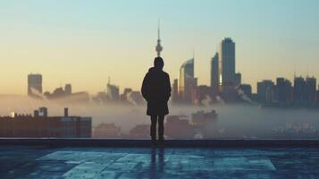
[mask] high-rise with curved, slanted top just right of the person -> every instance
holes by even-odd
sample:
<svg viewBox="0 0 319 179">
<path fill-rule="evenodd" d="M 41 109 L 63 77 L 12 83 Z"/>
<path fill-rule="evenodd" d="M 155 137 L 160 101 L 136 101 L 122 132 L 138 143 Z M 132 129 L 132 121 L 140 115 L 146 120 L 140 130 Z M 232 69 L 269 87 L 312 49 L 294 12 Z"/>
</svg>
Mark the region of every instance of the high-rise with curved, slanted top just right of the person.
<svg viewBox="0 0 319 179">
<path fill-rule="evenodd" d="M 196 96 L 197 78 L 194 78 L 194 58 L 180 66 L 179 96 L 183 102 L 192 102 Z"/>
</svg>

